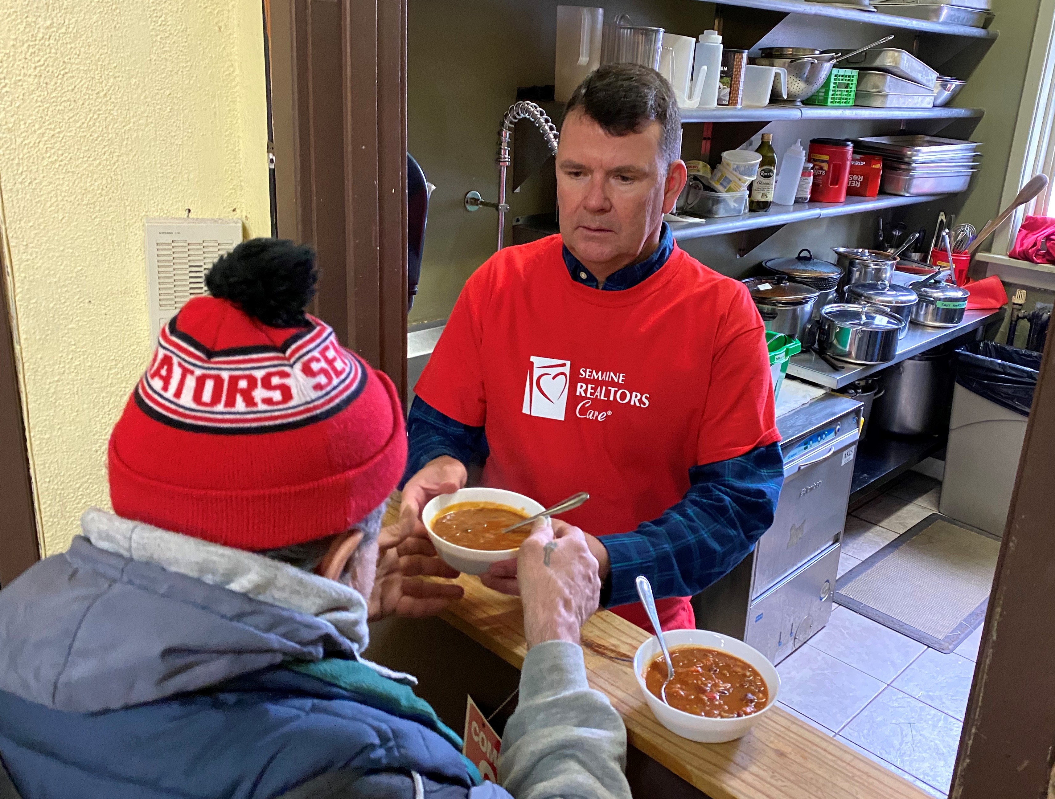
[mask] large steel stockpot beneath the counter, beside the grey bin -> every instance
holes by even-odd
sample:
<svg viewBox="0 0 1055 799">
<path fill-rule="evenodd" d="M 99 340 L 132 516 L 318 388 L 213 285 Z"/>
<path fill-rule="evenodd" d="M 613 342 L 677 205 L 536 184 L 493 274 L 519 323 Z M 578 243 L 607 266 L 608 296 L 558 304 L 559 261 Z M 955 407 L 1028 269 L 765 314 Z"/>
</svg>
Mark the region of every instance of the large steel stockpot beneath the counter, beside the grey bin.
<svg viewBox="0 0 1055 799">
<path fill-rule="evenodd" d="M 947 430 L 954 378 L 953 351 L 944 346 L 884 369 L 883 396 L 871 409 L 872 429 L 898 435 Z"/>
</svg>

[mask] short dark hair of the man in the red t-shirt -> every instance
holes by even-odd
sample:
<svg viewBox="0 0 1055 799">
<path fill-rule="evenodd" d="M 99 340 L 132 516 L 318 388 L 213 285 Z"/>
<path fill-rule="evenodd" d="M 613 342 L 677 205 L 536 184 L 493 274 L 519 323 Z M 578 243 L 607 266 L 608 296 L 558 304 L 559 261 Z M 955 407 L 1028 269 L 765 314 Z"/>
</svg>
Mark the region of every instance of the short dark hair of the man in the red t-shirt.
<svg viewBox="0 0 1055 799">
<path fill-rule="evenodd" d="M 659 151 L 669 165 L 682 153 L 682 114 L 667 79 L 641 64 L 605 64 L 587 75 L 564 105 L 564 119 L 581 111 L 610 136 L 659 123 Z"/>
</svg>

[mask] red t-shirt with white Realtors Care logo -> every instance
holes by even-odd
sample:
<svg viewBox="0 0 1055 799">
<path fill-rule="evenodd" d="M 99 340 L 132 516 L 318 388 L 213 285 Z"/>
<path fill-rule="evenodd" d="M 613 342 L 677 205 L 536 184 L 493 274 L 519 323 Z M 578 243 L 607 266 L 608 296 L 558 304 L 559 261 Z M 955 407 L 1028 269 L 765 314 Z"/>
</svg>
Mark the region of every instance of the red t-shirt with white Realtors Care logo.
<svg viewBox="0 0 1055 799">
<path fill-rule="evenodd" d="M 630 532 L 689 488 L 693 466 L 780 440 L 759 312 L 743 284 L 677 245 L 637 286 L 568 274 L 560 236 L 500 250 L 458 297 L 415 393 L 491 448 L 485 485 L 553 505 L 594 535 Z M 656 603 L 695 627 L 688 598 Z M 648 627 L 640 603 L 613 608 Z"/>
</svg>

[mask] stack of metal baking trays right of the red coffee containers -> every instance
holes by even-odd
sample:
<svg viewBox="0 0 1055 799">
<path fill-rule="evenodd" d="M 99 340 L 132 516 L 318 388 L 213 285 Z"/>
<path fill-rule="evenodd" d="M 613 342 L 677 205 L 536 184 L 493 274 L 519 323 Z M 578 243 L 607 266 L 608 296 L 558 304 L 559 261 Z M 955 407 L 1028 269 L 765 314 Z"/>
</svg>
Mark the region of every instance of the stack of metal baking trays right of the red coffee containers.
<svg viewBox="0 0 1055 799">
<path fill-rule="evenodd" d="M 853 142 L 858 153 L 883 158 L 883 191 L 887 194 L 950 194 L 962 192 L 978 171 L 979 142 L 939 136 L 869 136 Z"/>
</svg>

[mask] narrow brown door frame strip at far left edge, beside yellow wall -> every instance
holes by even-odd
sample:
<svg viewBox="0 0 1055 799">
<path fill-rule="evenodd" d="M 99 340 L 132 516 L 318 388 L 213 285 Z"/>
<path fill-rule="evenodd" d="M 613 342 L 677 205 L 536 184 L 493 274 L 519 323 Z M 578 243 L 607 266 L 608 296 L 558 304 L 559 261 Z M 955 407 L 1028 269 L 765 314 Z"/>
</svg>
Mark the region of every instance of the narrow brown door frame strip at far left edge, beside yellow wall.
<svg viewBox="0 0 1055 799">
<path fill-rule="evenodd" d="M 3 245 L 0 239 L 0 587 L 40 560 Z"/>
</svg>

